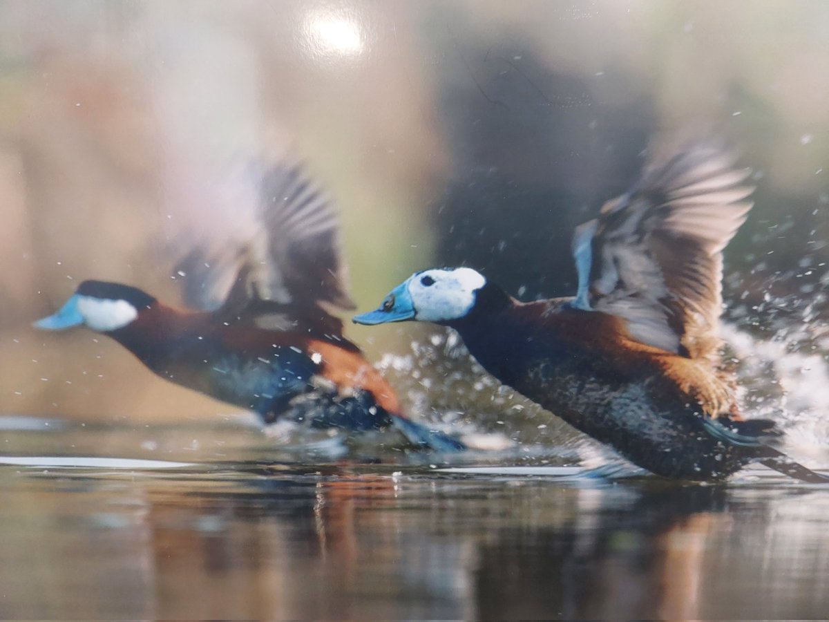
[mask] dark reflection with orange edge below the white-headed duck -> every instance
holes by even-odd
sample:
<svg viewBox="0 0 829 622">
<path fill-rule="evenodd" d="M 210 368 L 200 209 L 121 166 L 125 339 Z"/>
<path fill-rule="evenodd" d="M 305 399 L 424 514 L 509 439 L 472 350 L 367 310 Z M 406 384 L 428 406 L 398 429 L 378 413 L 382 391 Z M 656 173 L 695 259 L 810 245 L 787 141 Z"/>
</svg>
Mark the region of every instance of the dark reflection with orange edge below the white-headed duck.
<svg viewBox="0 0 829 622">
<path fill-rule="evenodd" d="M 580 492 L 589 512 L 556 526 L 506 529 L 482 545 L 480 617 L 700 617 L 708 535 L 729 522 L 725 490 L 669 486 L 628 503 Z"/>
</svg>

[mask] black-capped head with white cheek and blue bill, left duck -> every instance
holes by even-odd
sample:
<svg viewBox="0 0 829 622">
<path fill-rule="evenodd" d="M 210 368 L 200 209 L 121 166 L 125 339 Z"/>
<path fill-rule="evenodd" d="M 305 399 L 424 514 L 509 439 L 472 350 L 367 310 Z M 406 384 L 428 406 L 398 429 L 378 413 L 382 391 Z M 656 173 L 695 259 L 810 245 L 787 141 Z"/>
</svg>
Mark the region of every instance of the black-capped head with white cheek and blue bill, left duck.
<svg viewBox="0 0 829 622">
<path fill-rule="evenodd" d="M 84 281 L 48 318 L 39 319 L 35 328 L 63 330 L 85 325 L 98 333 L 109 333 L 133 323 L 138 314 L 156 302 L 140 289 L 105 281 Z"/>
</svg>

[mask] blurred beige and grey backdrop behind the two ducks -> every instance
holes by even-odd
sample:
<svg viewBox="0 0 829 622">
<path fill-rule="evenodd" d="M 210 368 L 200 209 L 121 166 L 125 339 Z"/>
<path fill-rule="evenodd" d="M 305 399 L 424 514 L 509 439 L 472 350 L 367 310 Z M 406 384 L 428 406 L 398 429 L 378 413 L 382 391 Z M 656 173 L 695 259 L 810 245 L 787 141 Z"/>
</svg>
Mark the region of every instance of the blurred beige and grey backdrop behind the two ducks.
<svg viewBox="0 0 829 622">
<path fill-rule="evenodd" d="M 432 265 L 475 266 L 522 299 L 574 293 L 573 227 L 633 182 L 653 136 L 713 130 L 758 187 L 726 250 L 727 317 L 783 343 L 743 355 L 824 357 L 827 25 L 822 0 L 4 0 L 2 412 L 232 411 L 106 338 L 30 323 L 89 278 L 176 303 L 173 242 L 244 219 L 227 175 L 259 157 L 303 159 L 336 197 L 365 310 Z M 448 382 L 468 362 L 434 328 L 347 335 L 410 408 L 492 408 Z M 473 388 L 502 420 L 497 388 Z"/>
</svg>

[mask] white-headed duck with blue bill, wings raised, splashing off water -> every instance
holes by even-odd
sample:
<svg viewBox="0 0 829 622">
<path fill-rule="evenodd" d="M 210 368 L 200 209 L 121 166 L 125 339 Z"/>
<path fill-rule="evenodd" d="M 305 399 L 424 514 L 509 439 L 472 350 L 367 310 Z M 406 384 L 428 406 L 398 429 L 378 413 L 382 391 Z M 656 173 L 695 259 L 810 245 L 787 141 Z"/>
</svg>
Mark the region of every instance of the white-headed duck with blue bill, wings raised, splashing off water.
<svg viewBox="0 0 829 622">
<path fill-rule="evenodd" d="M 424 270 L 354 321 L 454 328 L 492 376 L 654 474 L 720 480 L 759 461 L 827 483 L 769 445 L 773 421 L 740 416 L 720 360 L 722 250 L 753 191 L 734 163 L 705 144 L 653 158 L 577 228 L 572 298 L 521 303 L 470 268 Z"/>
</svg>

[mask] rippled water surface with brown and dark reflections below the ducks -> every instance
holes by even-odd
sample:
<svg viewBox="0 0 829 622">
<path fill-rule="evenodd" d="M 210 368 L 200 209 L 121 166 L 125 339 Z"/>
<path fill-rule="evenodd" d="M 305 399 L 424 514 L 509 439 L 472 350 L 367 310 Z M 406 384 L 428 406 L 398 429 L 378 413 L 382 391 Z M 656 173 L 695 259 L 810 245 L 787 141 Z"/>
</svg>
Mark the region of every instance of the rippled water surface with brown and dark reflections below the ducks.
<svg viewBox="0 0 829 622">
<path fill-rule="evenodd" d="M 16 427 L 4 619 L 829 615 L 829 490 L 765 470 L 302 464 L 243 426 Z"/>
</svg>

